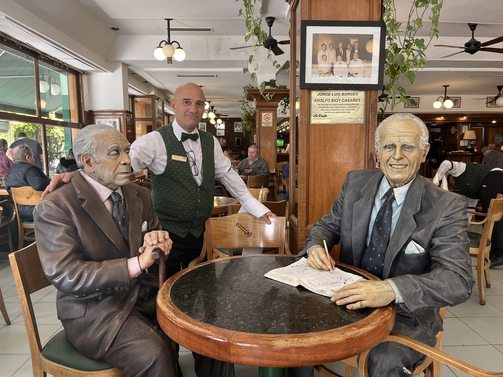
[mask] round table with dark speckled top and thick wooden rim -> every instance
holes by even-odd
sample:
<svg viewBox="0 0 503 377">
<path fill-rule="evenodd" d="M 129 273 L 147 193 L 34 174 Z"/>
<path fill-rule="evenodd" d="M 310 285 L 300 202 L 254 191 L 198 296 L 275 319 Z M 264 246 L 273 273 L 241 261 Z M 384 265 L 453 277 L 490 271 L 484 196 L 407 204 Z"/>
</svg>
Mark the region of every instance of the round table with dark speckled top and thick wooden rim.
<svg viewBox="0 0 503 377">
<path fill-rule="evenodd" d="M 350 311 L 329 297 L 264 277 L 295 261 L 285 255 L 235 256 L 180 271 L 157 295 L 159 324 L 198 354 L 261 367 L 346 359 L 390 334 L 394 304 Z M 347 265 L 337 267 L 377 279 Z"/>
</svg>

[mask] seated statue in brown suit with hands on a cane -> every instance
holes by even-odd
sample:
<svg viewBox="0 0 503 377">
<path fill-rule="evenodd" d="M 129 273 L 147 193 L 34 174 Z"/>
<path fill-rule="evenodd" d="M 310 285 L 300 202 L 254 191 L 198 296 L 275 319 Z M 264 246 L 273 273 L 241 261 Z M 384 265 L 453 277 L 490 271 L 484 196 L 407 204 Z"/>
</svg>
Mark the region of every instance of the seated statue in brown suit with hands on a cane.
<svg viewBox="0 0 503 377">
<path fill-rule="evenodd" d="M 129 184 L 129 146 L 107 125 L 79 131 L 74 151 L 83 170 L 35 209 L 38 253 L 58 290 L 66 337 L 81 354 L 126 376 L 175 377 L 174 348 L 152 324 L 158 278 L 144 271 L 153 249 L 168 255 L 172 241 L 149 191 Z"/>
</svg>

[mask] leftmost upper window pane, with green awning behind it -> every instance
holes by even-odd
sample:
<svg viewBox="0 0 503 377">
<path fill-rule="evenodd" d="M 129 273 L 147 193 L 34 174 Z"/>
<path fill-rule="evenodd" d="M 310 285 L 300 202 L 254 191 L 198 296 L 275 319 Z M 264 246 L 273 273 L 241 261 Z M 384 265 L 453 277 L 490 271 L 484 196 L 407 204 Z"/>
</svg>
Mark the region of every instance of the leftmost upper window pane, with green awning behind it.
<svg viewBox="0 0 503 377">
<path fill-rule="evenodd" d="M 36 116 L 33 58 L 0 44 L 0 111 Z"/>
</svg>

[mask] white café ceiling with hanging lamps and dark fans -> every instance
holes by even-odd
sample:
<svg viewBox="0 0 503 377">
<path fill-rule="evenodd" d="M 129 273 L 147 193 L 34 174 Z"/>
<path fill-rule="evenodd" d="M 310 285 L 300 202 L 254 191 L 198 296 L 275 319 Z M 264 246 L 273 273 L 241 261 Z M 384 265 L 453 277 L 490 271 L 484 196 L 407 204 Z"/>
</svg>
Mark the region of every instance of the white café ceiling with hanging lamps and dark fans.
<svg viewBox="0 0 503 377">
<path fill-rule="evenodd" d="M 403 0 L 396 3 L 399 7 L 409 4 Z M 233 0 L 3 0 L 0 16 L 29 25 L 33 32 L 21 33 L 13 22 L 1 18 L 0 31 L 39 50 L 48 49 L 55 57 L 58 49 L 53 46 L 51 50 L 47 43 L 44 45 L 39 35 L 54 41 L 55 45 L 65 45 L 80 59 L 67 58 L 68 63 L 87 64 L 90 71 L 107 70 L 111 62 L 122 62 L 133 77 L 161 89 L 166 96 L 181 83 L 196 82 L 217 111 L 240 116 L 237 100 L 242 97 L 242 87 L 251 83 L 247 68 L 251 49 L 229 50 L 248 44 L 244 40 L 244 19 L 238 17 L 240 7 L 242 2 Z M 406 8 L 397 10 L 402 19 L 407 13 Z M 272 35 L 278 40 L 288 39 L 288 4 L 283 0 L 264 0 L 263 14 L 276 17 Z M 501 15 L 501 0 L 445 0 L 439 26 L 441 37 L 427 50 L 426 68 L 418 72 L 414 85 L 403 83 L 407 94 L 438 97 L 443 95 L 442 85 L 449 84 L 449 95 L 470 96 L 465 100 L 496 95 L 496 85 L 503 85 L 503 54 L 462 53 L 442 59 L 461 50 L 433 44 L 462 46 L 471 37 L 468 22 L 479 23 L 475 38 L 481 42 L 503 36 Z M 171 39 L 177 40 L 186 51 L 186 60 L 173 64 L 157 61 L 153 50 L 159 41 L 166 39 L 165 17 L 173 18 L 172 28 L 208 27 L 213 28 L 213 32 L 171 32 Z M 120 30 L 112 31 L 111 27 Z M 265 20 L 263 28 L 267 30 Z M 503 48 L 503 43 L 492 47 Z M 285 54 L 276 58 L 289 67 L 285 65 L 289 45 L 282 45 L 281 49 Z M 264 51 L 261 48 L 258 52 L 260 81 L 276 78 L 278 84 L 288 84 L 288 69 L 276 72 L 264 61 Z"/>
</svg>

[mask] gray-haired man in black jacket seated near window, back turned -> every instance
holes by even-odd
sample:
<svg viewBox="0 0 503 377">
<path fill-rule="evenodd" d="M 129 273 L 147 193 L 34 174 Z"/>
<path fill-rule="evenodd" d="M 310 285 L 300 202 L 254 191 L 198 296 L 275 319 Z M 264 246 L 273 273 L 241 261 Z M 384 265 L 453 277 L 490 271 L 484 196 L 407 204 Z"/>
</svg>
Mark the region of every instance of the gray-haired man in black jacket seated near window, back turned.
<svg viewBox="0 0 503 377">
<path fill-rule="evenodd" d="M 5 178 L 5 188 L 11 193 L 11 187 L 31 186 L 33 190 L 44 191 L 51 179 L 35 165 L 33 152 L 27 144 L 14 147 L 12 150 L 14 166 Z M 22 221 L 33 221 L 34 205 L 18 205 Z"/>
</svg>

